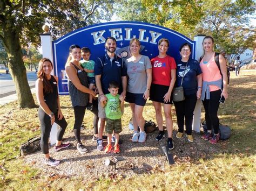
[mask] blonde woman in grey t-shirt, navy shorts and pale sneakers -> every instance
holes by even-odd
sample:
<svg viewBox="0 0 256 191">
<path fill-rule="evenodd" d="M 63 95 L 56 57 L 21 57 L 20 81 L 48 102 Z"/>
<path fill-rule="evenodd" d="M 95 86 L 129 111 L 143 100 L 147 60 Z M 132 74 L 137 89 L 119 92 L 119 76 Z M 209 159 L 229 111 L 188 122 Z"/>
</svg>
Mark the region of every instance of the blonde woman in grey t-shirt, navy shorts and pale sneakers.
<svg viewBox="0 0 256 191">
<path fill-rule="evenodd" d="M 152 80 L 152 66 L 149 57 L 141 55 L 140 41 L 133 38 L 130 41 L 131 58 L 125 61 L 127 68 L 127 92 L 125 101 L 130 103 L 132 110 L 132 122 L 134 133 L 132 142 L 144 143 L 146 132 L 144 130 L 145 119 L 143 118 L 143 108 L 150 94 Z M 140 133 L 138 133 L 138 126 Z"/>
</svg>

